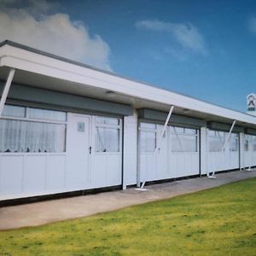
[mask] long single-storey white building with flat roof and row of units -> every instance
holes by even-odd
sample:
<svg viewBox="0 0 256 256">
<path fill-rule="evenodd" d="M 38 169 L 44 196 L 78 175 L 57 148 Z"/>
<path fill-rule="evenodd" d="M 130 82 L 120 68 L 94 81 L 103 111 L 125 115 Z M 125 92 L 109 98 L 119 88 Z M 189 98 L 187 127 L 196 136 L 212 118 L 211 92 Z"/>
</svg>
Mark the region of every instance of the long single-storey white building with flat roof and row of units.
<svg viewBox="0 0 256 256">
<path fill-rule="evenodd" d="M 0 93 L 0 201 L 256 166 L 253 115 L 11 41 Z"/>
</svg>

